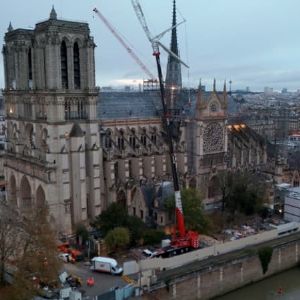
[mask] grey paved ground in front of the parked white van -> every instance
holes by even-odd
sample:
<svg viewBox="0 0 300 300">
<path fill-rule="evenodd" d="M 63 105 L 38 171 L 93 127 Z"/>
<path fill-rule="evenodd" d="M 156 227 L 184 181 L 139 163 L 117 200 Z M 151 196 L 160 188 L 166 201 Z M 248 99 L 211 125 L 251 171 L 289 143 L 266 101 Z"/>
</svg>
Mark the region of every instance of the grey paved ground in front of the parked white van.
<svg viewBox="0 0 300 300">
<path fill-rule="evenodd" d="M 64 263 L 63 271 L 69 275 L 75 275 L 82 281 L 80 290 L 84 290 L 85 296 L 99 296 L 117 287 L 123 287 L 128 284 L 126 276 L 117 276 L 106 273 L 93 272 L 84 262 L 76 262 L 75 264 Z M 89 277 L 95 280 L 94 286 L 87 286 L 86 281 Z"/>
</svg>

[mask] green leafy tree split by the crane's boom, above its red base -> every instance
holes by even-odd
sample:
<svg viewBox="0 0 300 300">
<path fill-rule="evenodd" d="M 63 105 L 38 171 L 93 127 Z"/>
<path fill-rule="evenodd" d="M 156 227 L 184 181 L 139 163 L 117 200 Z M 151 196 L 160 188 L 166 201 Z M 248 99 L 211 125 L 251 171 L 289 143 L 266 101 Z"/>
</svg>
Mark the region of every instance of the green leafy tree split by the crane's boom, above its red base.
<svg viewBox="0 0 300 300">
<path fill-rule="evenodd" d="M 204 215 L 200 192 L 196 189 L 183 189 L 181 191 L 182 208 L 187 230 L 205 232 L 208 229 L 208 219 Z M 174 196 L 165 201 L 165 208 L 174 215 Z"/>
</svg>

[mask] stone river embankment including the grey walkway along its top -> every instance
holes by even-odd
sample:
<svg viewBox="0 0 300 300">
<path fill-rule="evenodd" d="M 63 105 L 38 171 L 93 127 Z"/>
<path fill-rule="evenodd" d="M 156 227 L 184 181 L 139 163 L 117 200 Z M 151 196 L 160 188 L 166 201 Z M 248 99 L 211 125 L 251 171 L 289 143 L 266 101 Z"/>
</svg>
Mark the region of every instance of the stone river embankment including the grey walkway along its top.
<svg viewBox="0 0 300 300">
<path fill-rule="evenodd" d="M 297 266 L 299 246 L 300 234 L 296 233 L 160 272 L 150 295 L 158 299 L 212 299 Z M 265 273 L 257 251 L 261 247 L 273 249 Z M 150 298 L 145 295 L 144 299 Z"/>
</svg>

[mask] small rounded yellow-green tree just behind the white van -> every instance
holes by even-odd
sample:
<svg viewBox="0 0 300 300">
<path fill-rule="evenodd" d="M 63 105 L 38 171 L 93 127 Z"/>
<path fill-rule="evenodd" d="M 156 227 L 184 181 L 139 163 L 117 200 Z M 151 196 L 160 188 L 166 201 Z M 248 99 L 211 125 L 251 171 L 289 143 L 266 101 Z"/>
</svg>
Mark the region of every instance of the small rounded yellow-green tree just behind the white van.
<svg viewBox="0 0 300 300">
<path fill-rule="evenodd" d="M 124 227 L 116 227 L 105 236 L 105 243 L 113 250 L 124 249 L 130 242 L 129 230 Z"/>
</svg>

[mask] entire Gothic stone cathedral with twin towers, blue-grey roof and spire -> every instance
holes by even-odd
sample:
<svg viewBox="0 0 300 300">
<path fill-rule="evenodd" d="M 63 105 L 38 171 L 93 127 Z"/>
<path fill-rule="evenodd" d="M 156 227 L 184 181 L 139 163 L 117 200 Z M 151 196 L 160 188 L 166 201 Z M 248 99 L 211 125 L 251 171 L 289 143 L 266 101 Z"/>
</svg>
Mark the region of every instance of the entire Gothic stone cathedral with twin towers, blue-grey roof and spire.
<svg viewBox="0 0 300 300">
<path fill-rule="evenodd" d="M 166 225 L 162 201 L 172 174 L 159 92 L 99 90 L 95 46 L 87 23 L 59 20 L 54 8 L 34 29 L 9 26 L 2 51 L 7 201 L 21 213 L 47 204 L 66 234 L 115 201 Z M 171 50 L 179 54 L 176 28 Z M 246 125 L 228 123 L 225 84 L 221 92 L 215 82 L 210 93 L 185 89 L 180 63 L 169 57 L 165 85 L 180 183 L 216 208 L 218 174 L 266 163 L 265 145 Z"/>
</svg>

